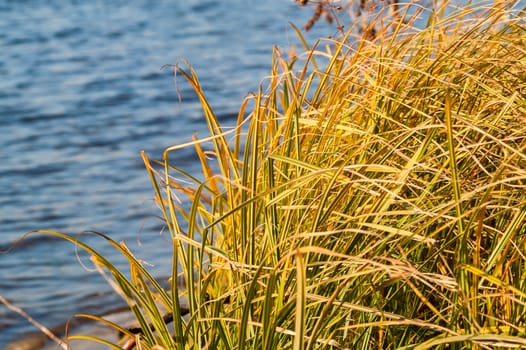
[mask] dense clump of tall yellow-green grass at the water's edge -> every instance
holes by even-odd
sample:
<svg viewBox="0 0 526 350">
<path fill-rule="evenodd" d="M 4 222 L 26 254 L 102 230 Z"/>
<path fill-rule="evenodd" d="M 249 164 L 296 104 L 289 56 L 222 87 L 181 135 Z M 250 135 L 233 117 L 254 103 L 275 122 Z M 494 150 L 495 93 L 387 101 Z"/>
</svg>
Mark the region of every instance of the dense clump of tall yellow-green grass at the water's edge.
<svg viewBox="0 0 526 350">
<path fill-rule="evenodd" d="M 124 244 L 106 237 L 131 278 L 75 242 L 142 328 L 112 324 L 128 339 L 112 346 L 526 348 L 526 28 L 505 5 L 477 11 L 276 49 L 230 129 L 177 65 L 209 135 L 160 170 L 143 153 L 171 288 Z M 201 180 L 177 168 L 186 147 Z"/>
</svg>

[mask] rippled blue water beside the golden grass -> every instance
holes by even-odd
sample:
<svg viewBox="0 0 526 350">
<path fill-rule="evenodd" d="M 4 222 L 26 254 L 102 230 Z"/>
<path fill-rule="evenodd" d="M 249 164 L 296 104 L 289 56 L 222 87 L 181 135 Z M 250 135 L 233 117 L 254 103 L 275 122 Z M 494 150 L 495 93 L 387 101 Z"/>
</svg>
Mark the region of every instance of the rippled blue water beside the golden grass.
<svg viewBox="0 0 526 350">
<path fill-rule="evenodd" d="M 1 1 L 0 250 L 30 230 L 96 230 L 167 275 L 171 252 L 140 159 L 206 135 L 189 87 L 165 64 L 187 58 L 225 123 L 269 73 L 273 45 L 311 11 L 290 1 Z M 319 24 L 313 42 L 334 27 Z M 198 172 L 191 153 L 178 165 Z M 117 263 L 100 239 L 82 239 Z M 80 259 L 89 265 L 86 256 Z M 74 247 L 31 235 L 0 255 L 0 295 L 48 327 L 118 299 Z M 0 348 L 35 328 L 0 304 Z"/>
</svg>

